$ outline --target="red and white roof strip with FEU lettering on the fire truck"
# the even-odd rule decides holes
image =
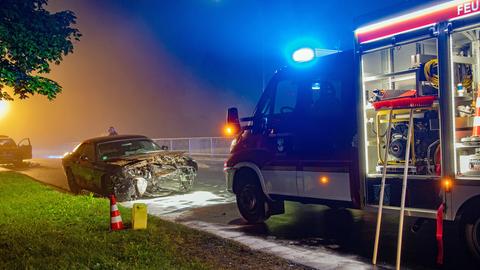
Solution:
[[[373,42],[401,33],[433,26],[441,21],[452,21],[479,13],[480,0],[450,1],[358,28],[355,31],[355,35],[359,43]]]

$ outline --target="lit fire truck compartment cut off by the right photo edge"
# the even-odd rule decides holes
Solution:
[[[451,35],[451,80],[455,89],[455,172],[457,177],[480,179],[478,134],[480,26],[463,27]],[[476,129],[476,130],[474,130]]]

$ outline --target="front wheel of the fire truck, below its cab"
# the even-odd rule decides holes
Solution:
[[[236,195],[238,210],[249,224],[262,223],[268,218],[265,195],[258,182],[246,181],[239,186]]]

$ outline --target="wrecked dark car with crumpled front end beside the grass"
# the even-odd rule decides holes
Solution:
[[[65,154],[62,164],[73,193],[114,194],[119,201],[187,192],[198,165],[184,152],[162,150],[139,135],[97,137]]]

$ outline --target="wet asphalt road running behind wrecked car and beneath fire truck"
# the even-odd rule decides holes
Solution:
[[[265,224],[247,225],[238,213],[234,197],[225,191],[223,159],[202,157],[196,159],[199,162],[199,173],[191,195],[169,193],[165,197],[150,201],[163,211],[162,215],[165,217],[180,222],[196,220],[232,226],[234,228],[232,230],[240,230],[248,235],[276,241],[282,245],[301,246],[312,251],[326,248],[338,254],[353,255],[362,261],[371,260],[375,213],[287,202],[285,214],[273,216]],[[58,189],[68,190],[59,159],[34,159],[22,168],[7,166],[6,169],[19,171]],[[203,196],[204,199],[198,200],[199,196]],[[170,202],[168,211],[163,207],[166,201]],[[413,233],[410,227],[414,222],[414,218],[406,218],[402,249],[403,267],[480,269],[463,249],[458,229],[451,223],[445,225],[445,263],[443,266],[436,265],[435,222],[428,220],[418,232]],[[378,257],[380,268],[392,268],[395,264],[397,232],[398,217],[392,214],[385,215]]]

